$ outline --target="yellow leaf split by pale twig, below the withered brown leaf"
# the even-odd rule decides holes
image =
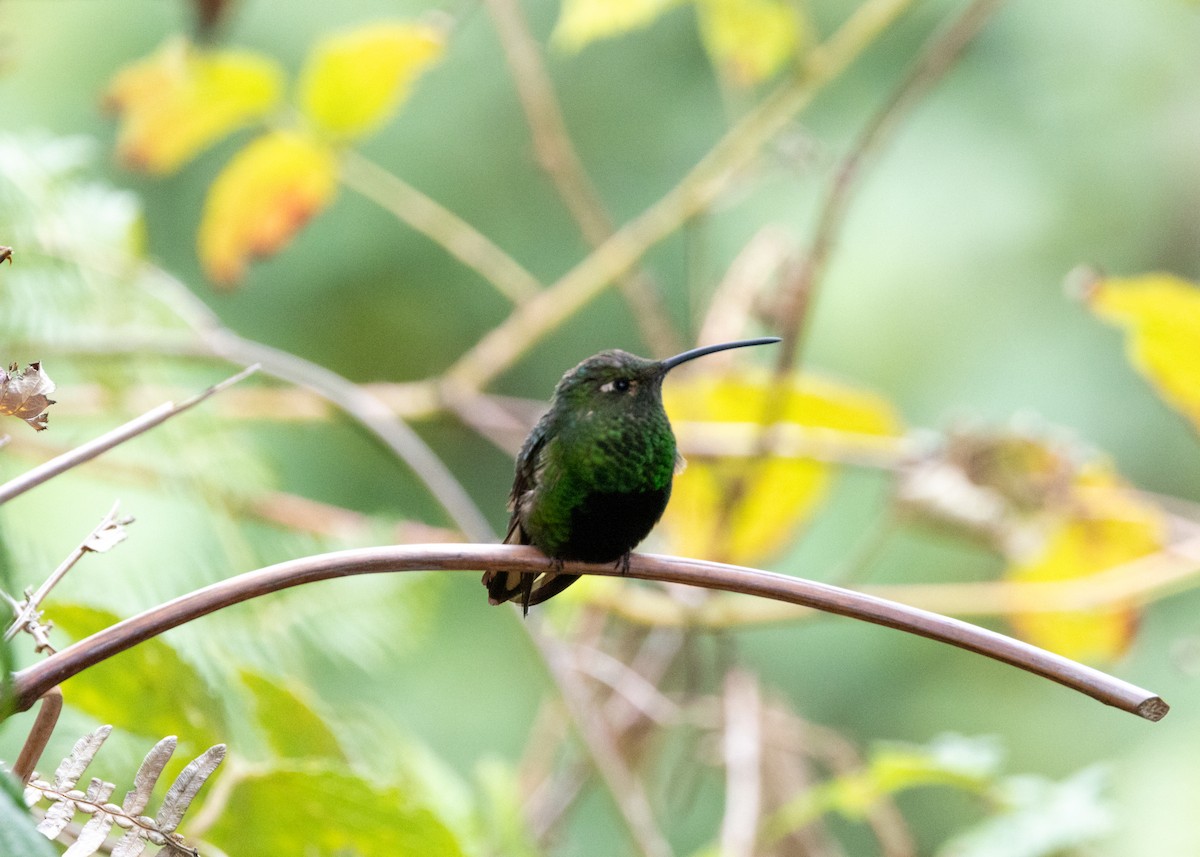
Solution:
[[[1034,556],[1006,573],[1014,582],[1080,581],[1160,551],[1166,527],[1159,510],[1126,486],[1106,463],[1084,467],[1070,502],[1056,516]],[[1138,627],[1132,605],[1088,611],[1026,612],[1012,617],[1025,640],[1068,658],[1110,661],[1128,648]]]

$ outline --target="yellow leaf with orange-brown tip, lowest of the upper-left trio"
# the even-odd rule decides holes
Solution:
[[[209,188],[198,239],[204,270],[235,283],[252,257],[281,250],[336,190],[337,162],[323,143],[292,131],[253,140]]]

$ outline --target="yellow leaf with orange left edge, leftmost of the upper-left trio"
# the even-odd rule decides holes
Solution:
[[[275,109],[283,74],[248,52],[209,52],[182,38],[118,72],[104,96],[121,118],[116,154],[130,167],[170,173]]]

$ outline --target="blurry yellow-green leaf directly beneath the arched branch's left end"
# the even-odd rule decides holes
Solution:
[[[120,621],[103,610],[68,604],[53,605],[47,618],[76,640]],[[84,670],[62,693],[71,707],[127,732],[178,735],[180,744],[203,748],[226,737],[221,699],[161,636]]]

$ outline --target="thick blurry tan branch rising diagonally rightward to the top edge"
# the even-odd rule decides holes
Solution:
[[[554,330],[655,244],[707,210],[762,148],[826,84],[859,56],[912,0],[868,0],[824,43],[814,48],[800,76],[768,96],[721,138],[674,187],[618,229],[551,288],[522,304],[446,372],[446,383],[480,390]]]

